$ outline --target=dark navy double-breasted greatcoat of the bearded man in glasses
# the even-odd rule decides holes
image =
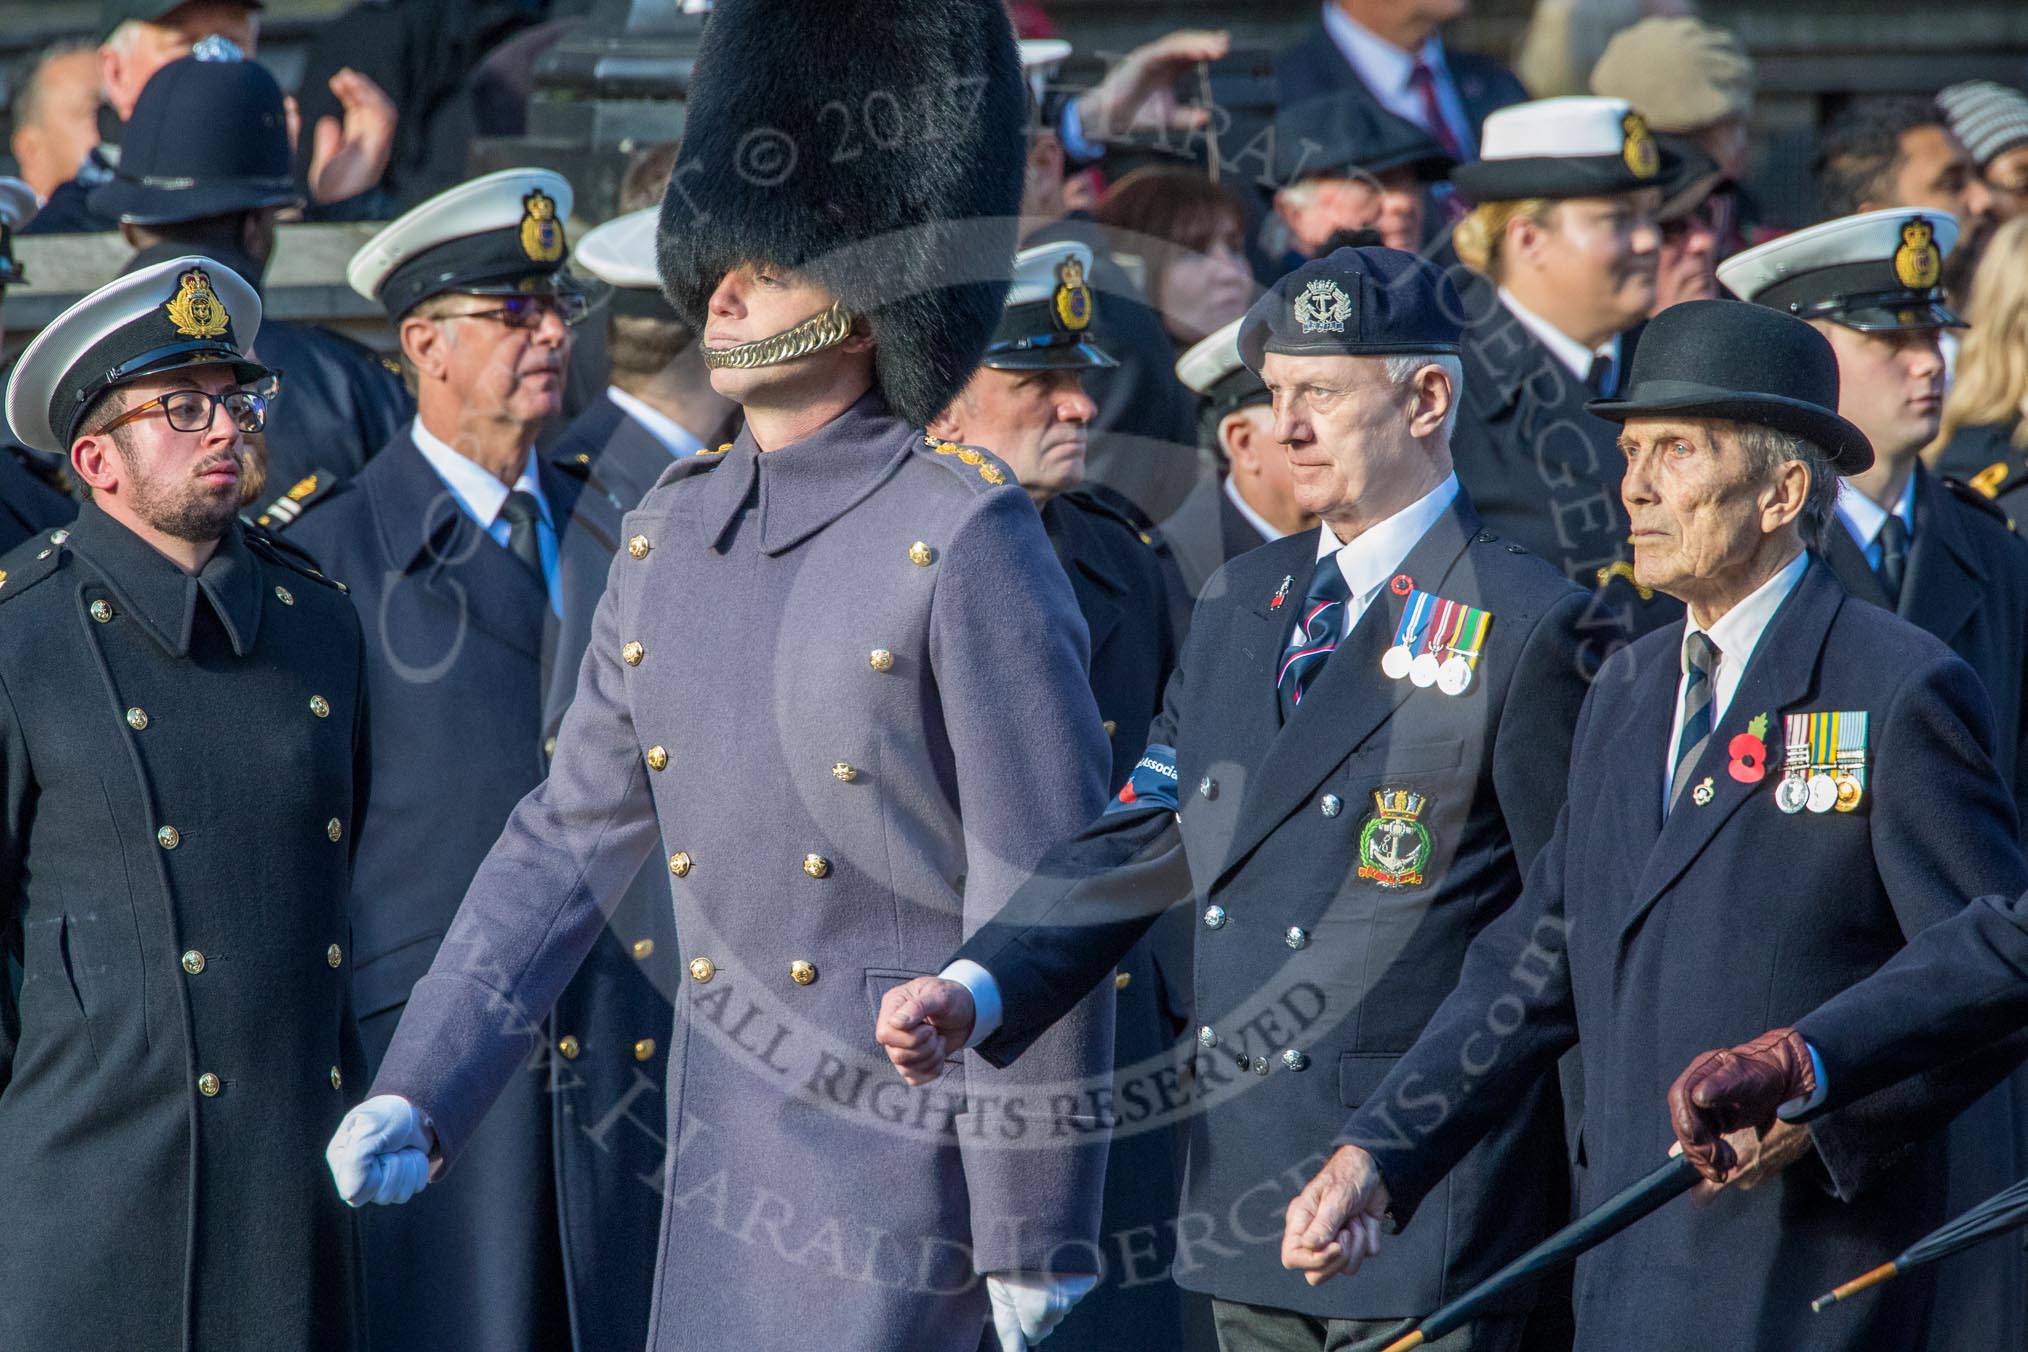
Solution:
[[[0,574],[0,1348],[351,1352],[353,608],[95,505]]]

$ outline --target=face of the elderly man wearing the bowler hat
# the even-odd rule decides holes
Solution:
[[[1732,424],[1704,418],[1631,418],[1620,430],[1633,521],[1635,580],[1693,606],[1744,596],[1758,582],[1768,537],[1801,511],[1801,462],[1756,474]],[[1799,476],[1799,480],[1797,480]]]

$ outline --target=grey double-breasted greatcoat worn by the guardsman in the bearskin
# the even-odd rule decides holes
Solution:
[[[874,1011],[1103,801],[1071,588],[1004,466],[874,393],[671,464],[623,531],[550,778],[375,1093],[456,1170],[659,835],[685,979],[649,1346],[973,1352],[975,1273],[1097,1271],[1113,991],[925,1088]]]

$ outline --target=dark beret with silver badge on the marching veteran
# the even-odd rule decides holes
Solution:
[[[1414,253],[1369,245],[1310,259],[1253,302],[1239,357],[1383,357],[1456,353],[1464,306],[1450,278]]]

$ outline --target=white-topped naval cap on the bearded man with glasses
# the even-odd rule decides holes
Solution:
[[[28,450],[61,456],[99,395],[160,371],[225,363],[254,383],[260,292],[225,264],[185,253],[114,278],[34,336],[6,385],[6,422]]]

